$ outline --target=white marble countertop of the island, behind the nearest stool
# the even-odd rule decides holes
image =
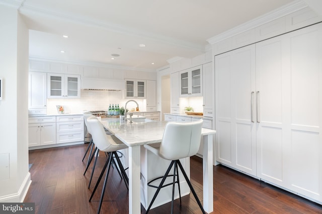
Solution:
[[[101,123],[127,146],[135,146],[161,142],[168,122],[129,123],[120,119],[102,119]],[[202,136],[215,133],[215,130],[202,128]]]

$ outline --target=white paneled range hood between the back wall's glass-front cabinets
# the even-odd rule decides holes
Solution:
[[[121,91],[121,90],[125,89],[125,81],[124,80],[83,77],[81,89]]]

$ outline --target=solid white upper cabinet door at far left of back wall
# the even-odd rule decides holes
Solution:
[[[47,108],[47,74],[29,72],[28,108]]]

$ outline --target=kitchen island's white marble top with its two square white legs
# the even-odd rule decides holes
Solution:
[[[167,121],[129,123],[119,119],[107,119],[101,122],[129,147],[129,213],[141,213],[141,158],[145,156],[142,154],[141,157],[141,145],[161,142]],[[203,207],[208,213],[213,211],[212,134],[215,133],[211,129],[202,129]]]

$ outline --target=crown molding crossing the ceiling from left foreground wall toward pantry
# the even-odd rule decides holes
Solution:
[[[2,0],[0,0],[2,1]],[[10,0],[6,0],[10,1]],[[188,41],[183,41],[179,39],[175,39],[172,37],[167,37],[159,34],[153,34],[150,32],[142,31],[142,30],[137,30],[134,28],[122,26],[122,25],[116,25],[112,23],[107,23],[107,22],[102,22],[101,20],[96,20],[96,19],[89,19],[85,17],[79,17],[79,16],[74,16],[74,15],[69,15],[69,14],[63,14],[57,11],[50,11],[42,8],[37,8],[32,5],[29,5],[28,2],[22,5],[20,8],[20,13],[25,14],[26,16],[30,15],[32,16],[33,14],[37,13],[38,15],[41,16],[46,16],[49,18],[53,19],[61,19],[62,21],[67,21],[67,22],[74,22],[77,24],[82,24],[82,25],[87,25],[91,27],[99,27],[106,29],[111,32],[116,32],[116,33],[121,33],[129,36],[135,36],[139,38],[144,38],[147,40],[152,40],[152,41],[157,41],[160,43],[165,43],[177,47],[182,47],[182,48],[187,48],[187,49],[192,49],[196,51],[202,52],[204,50],[203,45],[198,45],[195,43],[191,43]]]

